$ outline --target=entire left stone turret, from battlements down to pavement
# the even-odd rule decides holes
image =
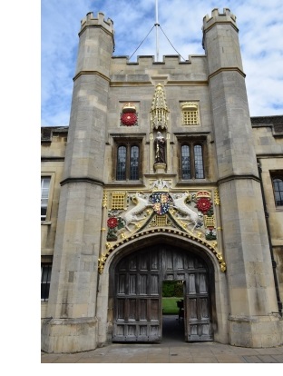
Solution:
[[[96,347],[112,20],[89,13],[79,37],[47,312],[52,319],[44,323],[42,335],[42,349],[48,352]]]

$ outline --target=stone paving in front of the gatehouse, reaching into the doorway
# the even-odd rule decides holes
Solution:
[[[283,363],[283,345],[250,349],[215,341],[185,342],[177,317],[163,321],[162,335],[158,344],[112,343],[73,354],[42,352],[41,363]]]

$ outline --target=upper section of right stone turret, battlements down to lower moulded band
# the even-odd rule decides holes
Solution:
[[[203,41],[208,56],[219,177],[234,173],[258,176],[238,28],[229,9],[224,9],[222,15],[214,9],[210,18],[204,17]]]

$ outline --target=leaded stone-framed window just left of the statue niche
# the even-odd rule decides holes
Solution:
[[[140,146],[137,143],[117,143],[116,180],[139,180],[141,172]]]

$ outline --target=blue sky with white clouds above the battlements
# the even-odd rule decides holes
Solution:
[[[42,1],[42,126],[69,124],[83,17],[102,12],[106,20],[111,18],[114,55],[128,55],[136,61],[137,55],[156,56],[155,4],[155,0]],[[159,60],[164,54],[181,54],[184,59],[204,54],[202,19],[212,9],[222,13],[226,7],[237,16],[250,115],[283,114],[282,0],[158,0]]]

